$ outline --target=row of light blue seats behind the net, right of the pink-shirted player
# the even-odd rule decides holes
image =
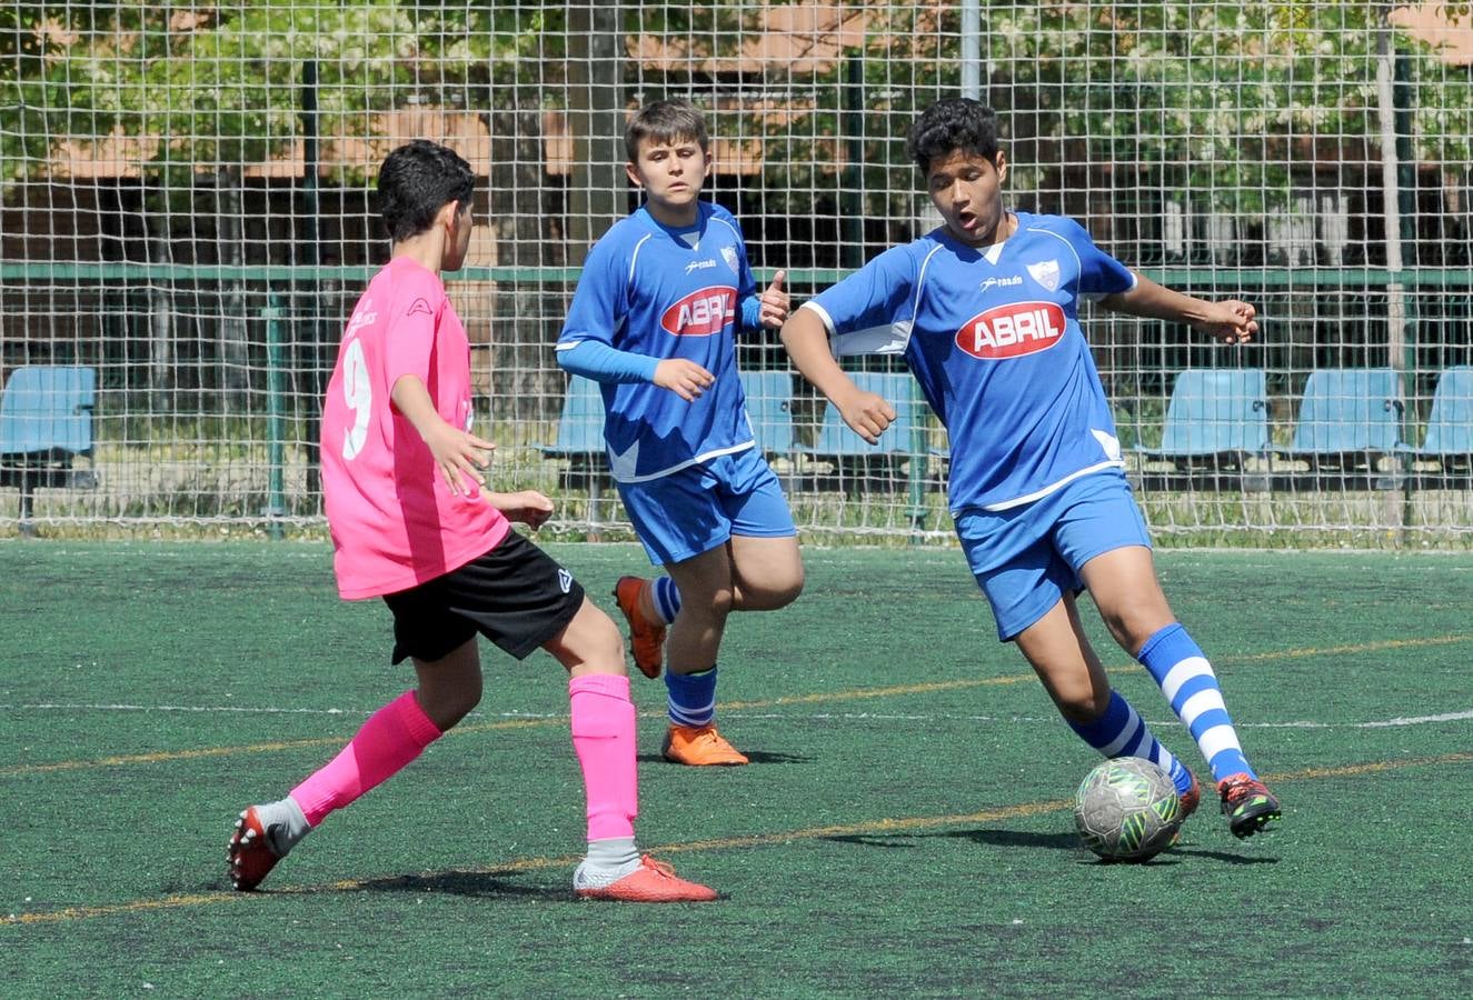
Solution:
[[[742,373],[747,411],[763,451],[790,480],[807,489],[904,489],[916,459],[946,459],[928,446],[925,404],[906,373],[856,373],[854,380],[890,399],[896,423],[879,445],[848,430],[825,405],[816,433],[797,434],[792,374]],[[1392,489],[1473,477],[1473,367],[1442,373],[1420,445],[1404,440],[1399,377],[1391,368],[1324,368],[1309,373],[1287,446],[1273,443],[1267,376],[1261,368],[1193,368],[1175,377],[1161,443],[1137,445],[1139,479],[1159,487]],[[580,485],[602,476],[602,401],[598,386],[573,378],[557,442],[542,448],[569,461]],[[807,440],[806,440],[807,439]],[[1162,471],[1159,465],[1165,465]],[[1426,468],[1424,465],[1430,465]],[[921,462],[924,477],[935,476]]]

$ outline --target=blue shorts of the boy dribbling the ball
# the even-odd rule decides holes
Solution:
[[[1150,548],[1130,483],[1114,470],[1081,476],[1022,507],[959,511],[956,536],[1003,642],[1041,619],[1065,592],[1081,591],[1080,567],[1096,555],[1128,545]]]

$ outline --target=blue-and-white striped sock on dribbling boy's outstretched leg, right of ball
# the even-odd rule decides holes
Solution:
[[[1240,772],[1256,778],[1237,742],[1237,730],[1223,704],[1223,689],[1212,673],[1212,664],[1180,622],[1146,639],[1136,658],[1156,679],[1161,692],[1171,703],[1171,711],[1177,713],[1198,741],[1202,756],[1212,767],[1214,782]]]

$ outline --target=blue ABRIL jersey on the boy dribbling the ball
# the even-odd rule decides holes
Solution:
[[[1136,275],[1058,215],[974,249],[944,227],[885,250],[803,308],[835,355],[903,353],[952,439],[950,508],[1006,510],[1102,468],[1119,442],[1078,300]]]

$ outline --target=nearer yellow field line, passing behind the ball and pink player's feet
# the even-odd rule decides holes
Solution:
[[[1274,784],[1295,781],[1320,781],[1326,778],[1354,778],[1357,775],[1371,775],[1388,770],[1404,770],[1407,767],[1423,767],[1438,764],[1473,763],[1473,753],[1441,754],[1436,757],[1414,757],[1410,760],[1373,760],[1360,764],[1343,764],[1340,767],[1305,767],[1301,770],[1264,775],[1264,781]],[[772,844],[788,844],[792,841],[812,841],[825,837],[863,837],[873,834],[907,834],[912,831],[937,829],[941,826],[962,826],[966,823],[996,823],[1006,819],[1021,819],[1043,813],[1056,813],[1072,807],[1072,800],[1055,798],[1037,803],[1021,803],[1018,806],[1002,806],[984,809],[978,813],[956,813],[950,816],[907,816],[865,820],[859,823],[835,823],[829,826],[809,826],[806,829],[784,831],[776,834],[750,834],[745,837],[720,837],[704,841],[686,841],[678,844],[661,844],[650,848],[654,854],[685,854],[692,851],[729,851],[750,847],[767,847]],[[455,875],[501,875],[514,872],[532,872],[546,867],[572,867],[580,860],[577,856],[567,857],[523,857],[489,866],[457,867]],[[417,878],[435,878],[451,872],[420,872]],[[286,887],[273,890],[274,895],[306,895],[315,892],[358,892],[383,881],[374,879],[342,879],[324,885]],[[66,923],[72,920],[87,920],[105,916],[122,916],[133,913],[149,913],[153,910],[174,910],[190,906],[211,906],[215,903],[234,903],[250,898],[245,892],[196,892],[190,895],[165,895],[158,900],[134,900],[113,906],[69,906],[62,910],[47,910],[41,913],[12,913],[0,916],[0,926],[24,926],[37,923]]]

